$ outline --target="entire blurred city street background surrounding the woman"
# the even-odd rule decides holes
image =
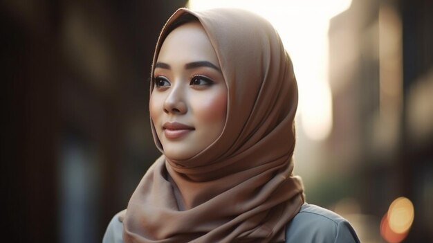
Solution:
[[[269,19],[293,57],[307,201],[362,242],[433,242],[433,1],[231,2],[0,1],[4,241],[102,241],[159,155],[160,29],[226,4]]]

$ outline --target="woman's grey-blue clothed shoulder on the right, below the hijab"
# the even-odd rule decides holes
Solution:
[[[304,204],[286,228],[286,242],[360,242],[349,222],[330,210]]]

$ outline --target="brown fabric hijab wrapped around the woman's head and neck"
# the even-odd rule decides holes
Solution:
[[[221,136],[191,159],[156,160],[129,201],[123,238],[284,242],[286,224],[304,203],[302,181],[293,176],[297,84],[290,57],[257,15],[181,8],[163,28],[153,64],[181,15],[199,20],[216,51],[228,87],[227,120]]]

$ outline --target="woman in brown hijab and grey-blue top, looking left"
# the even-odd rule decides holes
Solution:
[[[243,10],[177,10],[151,70],[163,155],[104,242],[359,242],[293,175],[297,84],[274,28]]]

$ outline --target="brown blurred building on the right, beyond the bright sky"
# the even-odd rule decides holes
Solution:
[[[340,183],[367,215],[409,198],[405,242],[433,241],[432,10],[430,0],[353,0],[329,28],[329,166],[349,174]]]

